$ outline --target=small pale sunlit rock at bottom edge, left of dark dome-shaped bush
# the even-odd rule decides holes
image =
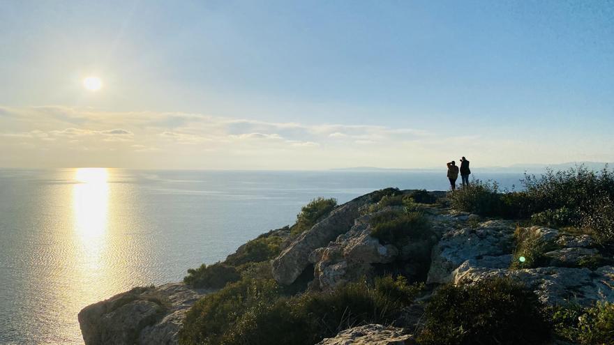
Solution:
[[[416,344],[412,335],[402,328],[370,324],[342,330],[334,338],[326,338],[316,345],[410,345]]]

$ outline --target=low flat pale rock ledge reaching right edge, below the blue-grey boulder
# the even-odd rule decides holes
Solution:
[[[522,270],[485,268],[465,261],[454,270],[455,284],[479,282],[491,277],[511,277],[537,293],[548,305],[565,305],[569,301],[588,306],[597,300],[614,302],[614,267],[588,268],[540,267]]]

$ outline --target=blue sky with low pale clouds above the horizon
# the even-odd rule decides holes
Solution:
[[[0,167],[614,161],[614,1],[0,0],[0,33]]]

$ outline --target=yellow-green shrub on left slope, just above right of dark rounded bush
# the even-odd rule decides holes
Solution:
[[[268,261],[281,252],[283,238],[280,236],[260,236],[239,247],[237,252],[230,254],[225,263],[240,266],[245,263]]]

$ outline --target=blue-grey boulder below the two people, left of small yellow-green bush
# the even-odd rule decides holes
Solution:
[[[502,262],[510,257],[493,257],[509,255],[513,245],[514,226],[511,222],[489,220],[475,228],[451,229],[444,233],[439,243],[433,247],[426,282],[450,282],[452,271],[470,259],[481,260],[480,264],[486,267],[500,267],[504,264]]]

